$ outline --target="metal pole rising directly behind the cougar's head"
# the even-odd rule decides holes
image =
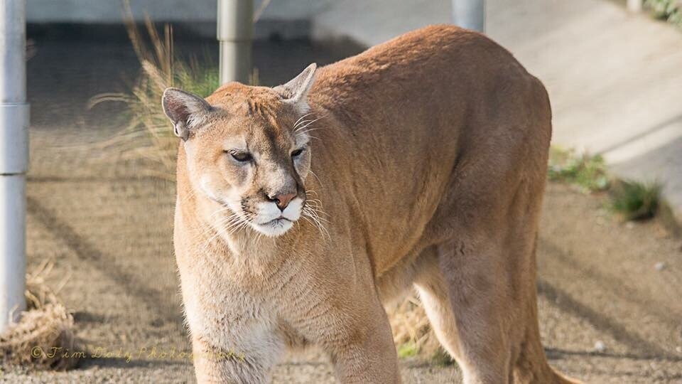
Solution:
[[[221,84],[249,82],[253,17],[253,0],[218,0]]]

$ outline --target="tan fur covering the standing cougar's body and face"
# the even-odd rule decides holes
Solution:
[[[174,241],[198,380],[267,382],[288,346],[312,343],[342,383],[398,383],[381,302],[413,284],[465,383],[570,383],[538,333],[541,83],[485,36],[431,26],[320,68],[303,91],[307,106],[224,85],[180,144]],[[318,120],[299,137],[308,107]],[[227,157],[234,137],[255,165]],[[229,227],[239,208],[224,196],[247,212],[294,183],[324,229]]]

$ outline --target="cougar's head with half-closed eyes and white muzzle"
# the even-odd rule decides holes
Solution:
[[[212,225],[283,235],[303,214],[315,117],[306,97],[311,64],[277,87],[231,82],[206,99],[168,88],[163,110],[183,140],[193,193],[212,204]]]

